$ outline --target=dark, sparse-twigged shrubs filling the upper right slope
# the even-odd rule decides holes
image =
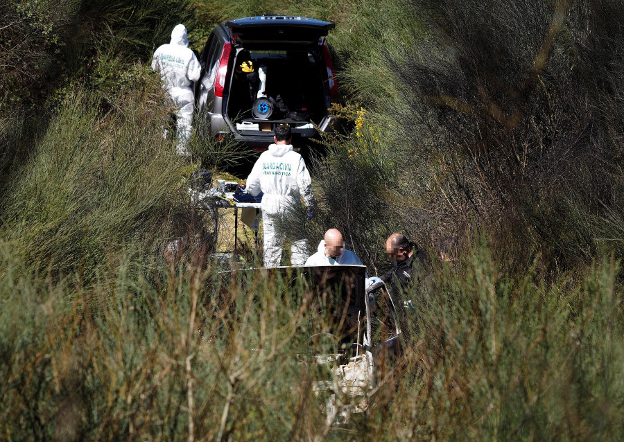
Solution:
[[[588,219],[620,206],[621,4],[415,1],[405,17],[419,26],[381,48],[381,80],[347,73],[383,91],[373,104],[395,123],[401,197],[437,201],[451,234],[476,215],[520,259],[593,256]]]

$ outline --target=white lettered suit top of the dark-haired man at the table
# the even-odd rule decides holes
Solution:
[[[256,196],[260,191],[263,214],[284,213],[300,202],[312,206],[314,195],[306,163],[291,144],[272,144],[254,164],[247,178],[247,191]]]

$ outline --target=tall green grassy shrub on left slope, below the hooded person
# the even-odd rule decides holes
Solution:
[[[93,276],[108,252],[166,238],[182,163],[162,139],[157,81],[135,73],[144,89],[119,91],[106,114],[97,96],[70,94],[12,170],[2,236],[26,262]]]

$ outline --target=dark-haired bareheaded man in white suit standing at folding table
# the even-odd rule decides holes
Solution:
[[[300,204],[300,196],[308,208],[308,219],[313,216],[314,195],[306,163],[293,151],[291,127],[277,126],[275,144],[262,152],[247,178],[247,190],[256,196],[263,191],[262,224],[264,267],[277,267],[281,261],[284,238],[275,224],[284,213]],[[307,256],[306,240],[295,240],[291,247],[291,264],[303,265]]]

